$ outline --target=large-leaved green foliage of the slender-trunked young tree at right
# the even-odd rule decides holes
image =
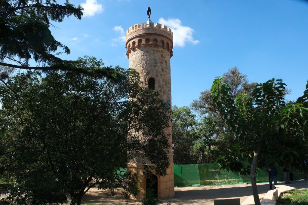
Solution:
[[[226,119],[229,129],[239,139],[239,143],[234,145],[234,155],[219,159],[221,164],[224,164],[223,162],[226,161],[229,162],[228,165],[222,166],[226,169],[231,167],[231,170],[239,171],[242,174],[250,173],[248,166],[245,166],[244,162],[252,162],[253,151],[256,151],[258,146],[260,146],[260,137],[269,129],[271,130],[267,137],[261,142],[266,144],[265,149],[267,152],[263,155],[263,158],[259,158],[259,167],[270,166],[271,163],[279,163],[281,166],[300,164],[299,162],[302,162],[300,161],[302,159],[294,160],[296,158],[294,155],[298,155],[295,150],[299,149],[301,145],[299,142],[303,140],[298,135],[298,131],[306,129],[304,128],[305,123],[303,121],[296,123],[299,120],[297,117],[289,116],[287,118],[286,116],[292,109],[294,113],[300,114],[305,108],[302,111],[295,111],[299,108],[300,104],[285,104],[285,84],[282,80],[272,79],[258,84],[256,89],[253,90],[252,97],[241,94],[235,98],[234,102],[229,90],[229,86],[222,78],[218,78],[213,82],[213,99],[217,102],[219,112]],[[301,116],[299,117],[302,119]],[[295,123],[298,127],[294,127]],[[294,130],[294,133],[288,132],[287,136],[284,131],[288,131],[288,126],[294,127],[296,131]],[[285,129],[283,130],[282,128]],[[290,138],[290,136],[293,138]],[[298,143],[295,141],[298,141]],[[289,150],[287,147],[289,147]],[[305,146],[302,148],[306,149]],[[241,152],[238,152],[238,150],[241,150]],[[286,153],[285,157],[283,152]],[[280,159],[276,159],[278,153],[282,154]]]

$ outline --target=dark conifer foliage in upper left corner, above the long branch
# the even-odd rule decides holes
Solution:
[[[36,62],[59,61],[53,54],[59,48],[69,54],[67,46],[52,36],[50,21],[62,22],[72,15],[81,19],[83,15],[80,6],[51,0],[2,0],[0,11],[0,60],[17,57],[24,60],[24,65],[30,58]]]

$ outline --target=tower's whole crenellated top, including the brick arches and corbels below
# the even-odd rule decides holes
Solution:
[[[147,23],[135,24],[126,31],[126,55],[129,58],[131,51],[140,46],[156,46],[170,52],[170,58],[173,55],[173,33],[167,26],[160,23],[148,21]]]

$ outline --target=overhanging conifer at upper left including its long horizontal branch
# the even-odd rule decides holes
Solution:
[[[53,26],[51,21],[62,22],[70,16],[81,20],[82,10],[80,5],[76,7],[68,0],[64,5],[57,4],[56,0],[1,0],[0,65],[28,70],[75,70],[89,75],[115,77],[110,67],[87,67],[56,57],[59,49],[66,54],[70,50],[52,36],[49,29]],[[43,66],[29,66],[30,58]]]

